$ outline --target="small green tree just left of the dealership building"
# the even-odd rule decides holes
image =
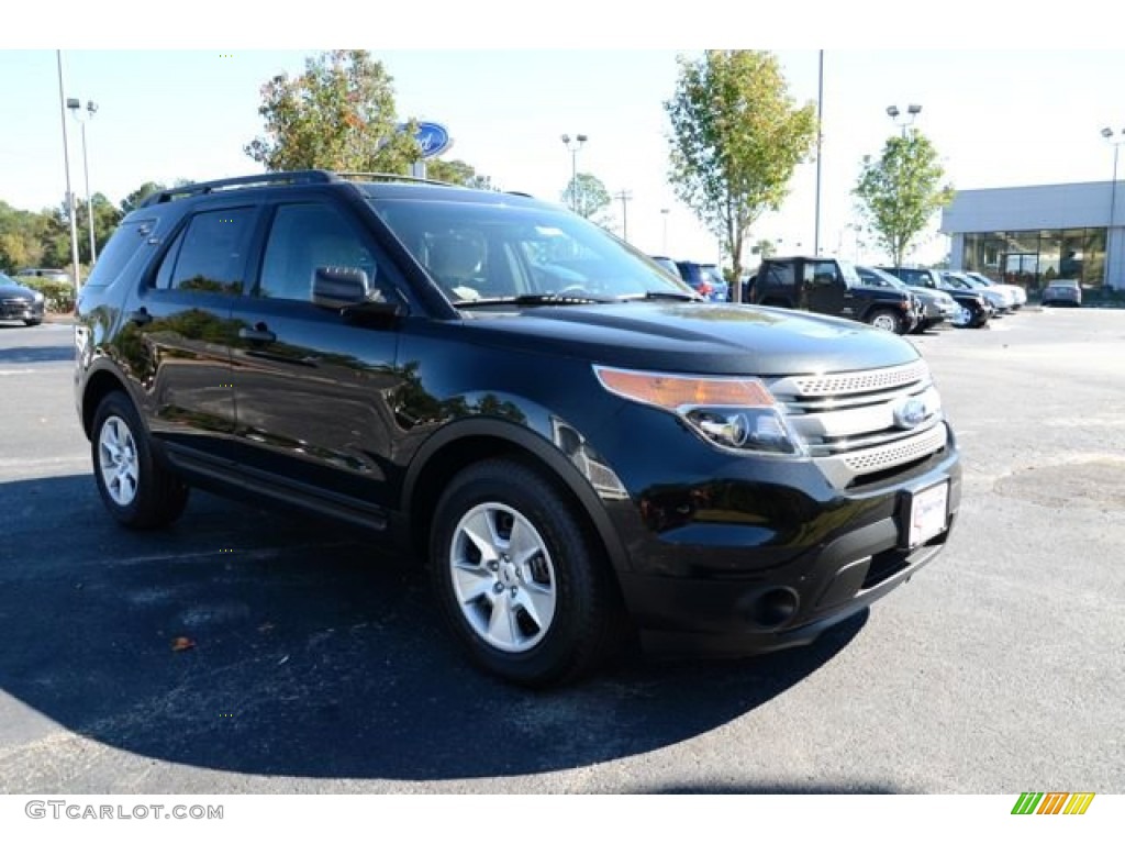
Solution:
[[[863,156],[852,192],[896,267],[902,266],[934,214],[953,199],[953,187],[943,185],[944,179],[937,150],[917,129],[886,138],[878,160]]]

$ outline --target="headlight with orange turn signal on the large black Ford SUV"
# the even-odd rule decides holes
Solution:
[[[610,393],[673,413],[708,442],[738,451],[803,454],[770,389],[757,378],[638,372],[594,367]]]

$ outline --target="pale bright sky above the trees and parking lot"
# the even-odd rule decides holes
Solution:
[[[19,38],[18,32],[11,38],[10,29],[0,35],[0,102],[9,118],[0,132],[0,200],[38,210],[57,205],[65,195],[58,70],[52,46],[64,47],[65,96],[98,104],[87,125],[91,191],[118,203],[145,181],[259,172],[243,147],[262,131],[258,115],[262,83],[277,73],[300,73],[307,56],[334,46],[325,43],[332,34],[314,27],[304,35],[310,46],[302,47],[297,24],[290,30],[282,27],[278,37],[268,39],[270,45],[253,45],[254,38],[246,37],[252,45],[246,48],[202,48],[197,46],[198,18],[206,19],[205,6],[197,7],[201,14],[192,19],[196,29],[186,27],[178,42],[163,43],[169,41],[168,27],[144,42],[156,50],[122,50],[114,43],[120,33],[90,34],[74,26],[62,32],[54,45]],[[460,6],[449,7],[447,26],[434,27],[433,37],[418,38],[414,27],[404,28],[397,43],[372,36],[370,44],[342,46],[370,50],[382,62],[394,78],[400,118],[448,126],[453,147],[443,158],[468,162],[503,189],[558,201],[572,168],[572,154],[560,136],[585,134],[588,141],[577,154],[577,168],[598,177],[611,194],[631,195],[630,242],[654,254],[717,260],[716,237],[699,225],[667,182],[668,123],[663,104],[675,88],[677,56],[694,57],[704,46],[731,45],[717,35],[721,27],[712,32],[691,26],[683,28],[685,46],[660,43],[667,32],[652,38],[650,29],[640,28],[630,33],[632,42],[613,47],[604,33],[587,27],[582,38],[561,25],[559,43],[537,42],[555,25],[551,10],[580,15],[583,6],[529,7],[497,0],[479,7],[531,10],[520,18],[520,26],[539,35],[521,43],[534,48],[497,48],[495,27],[485,26],[486,19],[467,17],[467,29],[458,32],[461,18],[452,10],[464,9]],[[956,3],[951,11],[957,11]],[[533,19],[537,15],[543,19]],[[512,25],[511,17],[507,20],[506,26]],[[348,32],[356,37],[354,29]],[[476,37],[474,32],[483,35]],[[1006,32],[1011,34],[1010,28]],[[839,39],[835,32],[820,35],[826,44]],[[583,41],[592,48],[582,48]],[[501,42],[512,44],[515,38]],[[861,221],[850,191],[863,156],[878,155],[886,137],[899,131],[885,114],[890,105],[903,113],[911,102],[921,105],[915,125],[934,142],[955,188],[1110,179],[1113,150],[1100,129],[1125,129],[1125,51],[997,50],[981,44],[980,37],[956,43],[966,46],[825,48],[822,251],[867,261],[883,258],[868,243],[870,236],[855,231]],[[16,50],[17,44],[42,48]],[[430,44],[433,48],[420,48]],[[271,45],[287,48],[260,48]],[[801,104],[814,101],[819,51],[775,52],[790,95]],[[81,127],[70,115],[65,123],[73,189],[84,196]],[[814,163],[800,165],[790,188],[780,212],[766,214],[754,226],[750,243],[780,241],[782,252],[812,249]],[[662,213],[665,208],[667,214]],[[621,234],[621,203],[614,201],[611,209]],[[947,249],[947,239],[937,234],[935,225],[912,258],[939,260]]]

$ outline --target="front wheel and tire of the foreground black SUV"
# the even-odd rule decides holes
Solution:
[[[484,530],[487,548],[470,538]],[[477,666],[544,688],[588,674],[611,649],[621,613],[610,564],[548,473],[507,459],[469,466],[430,536],[442,616]]]

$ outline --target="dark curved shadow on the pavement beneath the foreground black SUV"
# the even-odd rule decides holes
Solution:
[[[410,559],[335,526],[194,493],[174,528],[134,533],[88,476],[0,484],[0,690],[110,747],[250,774],[486,778],[651,752],[772,700],[866,620],[532,693],[468,665]]]

